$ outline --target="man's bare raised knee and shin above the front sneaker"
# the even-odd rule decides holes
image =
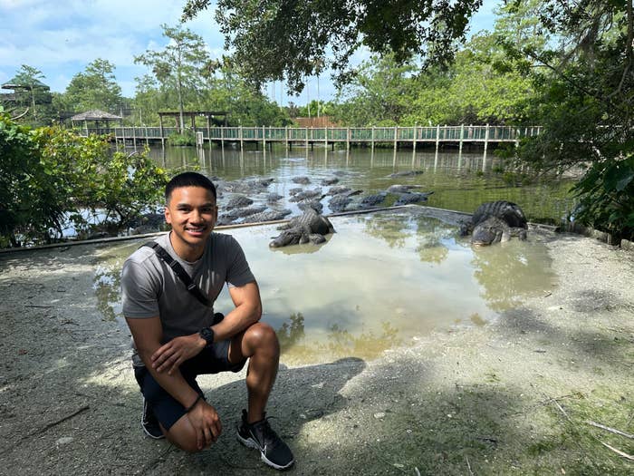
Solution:
[[[236,364],[245,358],[249,359],[246,370],[249,395],[247,421],[255,423],[264,418],[264,409],[280,362],[280,343],[273,327],[258,322],[235,335],[229,346],[229,362]]]

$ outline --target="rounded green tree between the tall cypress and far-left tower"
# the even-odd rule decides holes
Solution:
[[[75,112],[91,109],[116,112],[122,97],[114,70],[114,64],[97,58],[86,66],[84,73],[72,77],[64,93],[65,101],[74,105]]]

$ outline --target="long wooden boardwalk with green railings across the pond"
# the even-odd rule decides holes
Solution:
[[[293,145],[311,147],[314,144],[324,146],[345,144],[349,150],[351,145],[393,144],[396,150],[399,146],[410,146],[414,150],[418,144],[451,143],[462,151],[464,143],[482,144],[485,151],[489,143],[502,142],[517,143],[524,137],[532,137],[540,133],[541,127],[514,126],[414,126],[414,127],[337,127],[337,128],[306,128],[306,127],[197,127],[190,129],[197,137],[197,145],[205,142],[216,142],[224,148],[226,142],[239,143],[244,149],[246,143],[262,143],[265,147],[274,143],[284,144],[286,149]],[[82,129],[81,133],[104,133],[101,130]],[[174,127],[116,127],[110,129],[115,140],[119,143],[157,142],[165,145],[169,135],[177,132]]]

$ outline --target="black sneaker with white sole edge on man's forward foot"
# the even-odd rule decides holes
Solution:
[[[242,411],[242,424],[238,426],[238,442],[249,448],[260,450],[260,457],[269,466],[276,470],[285,470],[293,465],[293,453],[288,445],[283,442],[266,418],[259,422],[247,423],[246,410]]]

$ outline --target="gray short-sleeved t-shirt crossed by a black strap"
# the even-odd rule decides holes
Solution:
[[[169,234],[155,241],[180,263],[212,303],[225,283],[241,287],[255,281],[245,253],[230,235],[212,233],[203,256],[195,263],[178,257]],[[121,301],[123,316],[130,319],[159,316],[163,343],[213,324],[214,310],[187,291],[172,268],[149,247],[137,249],[123,264]]]

